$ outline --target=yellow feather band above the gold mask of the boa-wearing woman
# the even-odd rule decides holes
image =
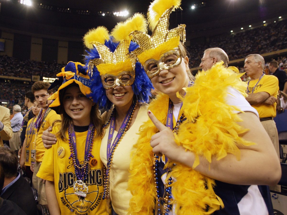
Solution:
[[[139,62],[143,65],[148,59],[159,60],[161,56],[173,48],[177,48],[180,42],[180,37],[174,37],[160,44],[156,48],[146,50],[137,56]],[[173,48],[172,48],[173,47]]]

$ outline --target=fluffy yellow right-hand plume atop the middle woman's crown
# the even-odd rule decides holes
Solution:
[[[133,31],[147,32],[147,20],[141,13],[135,13],[125,22],[119,22],[111,31],[111,36],[115,38],[116,42],[122,40],[129,40],[129,35]]]

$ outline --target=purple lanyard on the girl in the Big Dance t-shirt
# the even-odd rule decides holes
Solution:
[[[92,134],[93,128],[94,128],[94,125],[91,123],[89,125],[88,134],[87,134],[87,138],[86,138],[84,160],[86,160],[86,157],[89,154],[88,148],[89,148],[89,145],[90,145],[90,139],[91,139],[91,134]],[[75,150],[75,157],[74,157],[74,159],[75,159],[77,165],[79,166],[80,162],[79,162],[79,159],[78,159],[77,146],[76,146],[76,134],[75,134],[74,126],[70,125],[69,130],[70,130],[70,134],[71,134],[71,143],[73,144],[73,147],[74,147],[74,150]],[[84,168],[82,170],[84,171]],[[79,177],[82,178],[83,172],[79,168],[77,168],[77,170],[75,169],[75,171],[77,171],[79,173]]]

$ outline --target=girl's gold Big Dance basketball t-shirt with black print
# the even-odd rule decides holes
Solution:
[[[56,134],[60,128],[60,125],[53,126],[52,133]],[[84,161],[87,133],[88,131],[75,132],[77,156],[80,164]],[[94,135],[96,136],[96,132]],[[66,137],[68,137],[68,132],[66,132]],[[100,160],[100,144],[101,137],[94,138],[92,155],[95,160],[90,164],[87,181],[84,181],[88,187],[88,193],[84,202],[78,201],[79,198],[73,191],[73,183],[76,177],[73,161],[69,159],[71,155],[69,141],[57,138],[57,143],[52,148],[46,150],[37,177],[54,181],[61,214],[106,214],[106,200],[102,200],[104,172],[103,163]],[[64,152],[61,152],[61,154],[64,153],[63,158],[57,153],[59,147],[64,148]]]

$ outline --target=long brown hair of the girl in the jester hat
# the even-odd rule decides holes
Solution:
[[[77,84],[70,84],[69,86],[60,90],[59,97],[60,97],[60,101],[61,101],[61,105],[60,105],[61,120],[55,120],[53,122],[53,126],[55,124],[61,123],[61,129],[59,130],[59,132],[56,133],[56,136],[58,138],[61,138],[62,140],[67,140],[66,132],[67,132],[70,124],[73,124],[72,118],[65,112],[65,109],[63,106],[63,96],[65,94],[65,91],[71,86],[79,87],[79,85],[77,85]],[[90,114],[90,120],[91,120],[91,123],[94,124],[94,127],[95,127],[95,131],[96,131],[95,137],[98,137],[100,135],[100,133],[102,132],[102,126],[104,123],[101,119],[100,111],[99,111],[99,107],[98,107],[97,103],[92,106],[91,114]]]

